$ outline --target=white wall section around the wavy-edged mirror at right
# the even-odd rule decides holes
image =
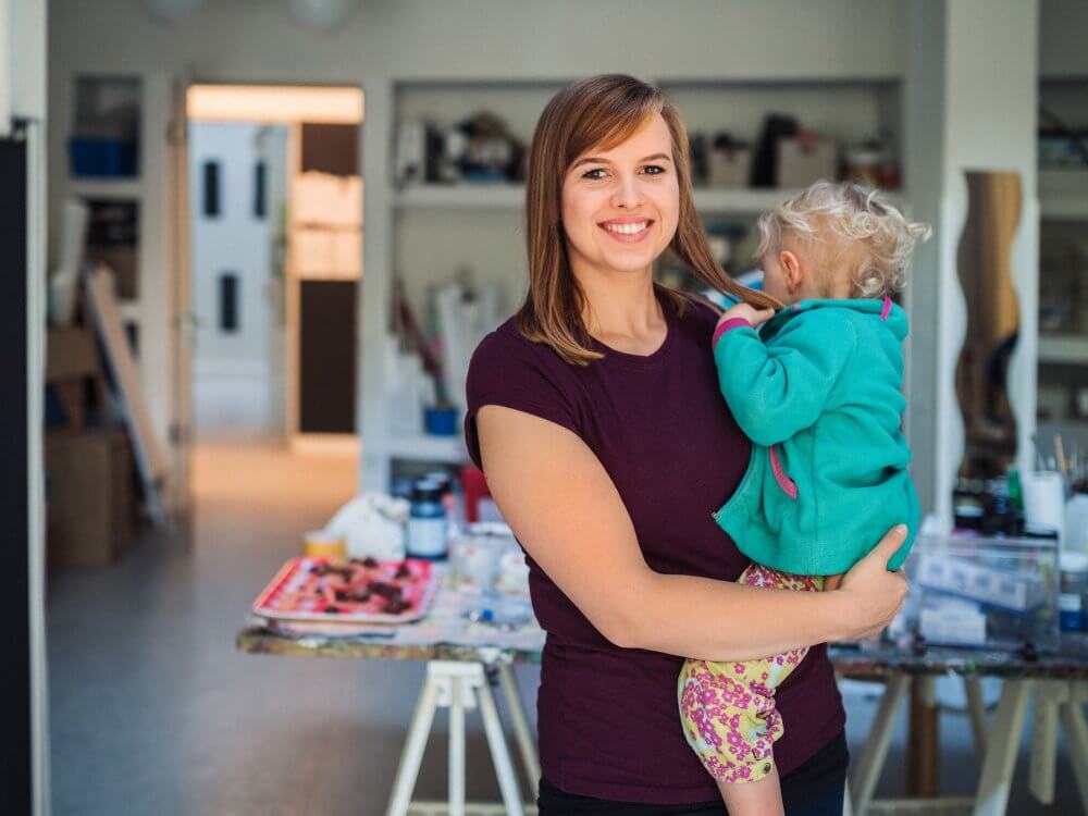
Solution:
[[[1021,331],[1010,369],[1019,465],[1030,467],[1038,334],[1035,0],[914,0],[907,76],[906,182],[913,215],[935,227],[908,289],[910,438],[923,507],[951,521],[963,455],[954,388],[966,308],[956,251],[967,215],[968,171],[1013,171],[1023,209],[1012,249]],[[979,25],[985,20],[986,25]]]

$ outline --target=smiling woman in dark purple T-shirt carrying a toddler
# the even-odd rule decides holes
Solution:
[[[733,583],[745,559],[710,514],[750,443],[716,383],[717,314],[654,284],[667,248],[708,285],[766,296],[715,262],[676,110],[636,79],[576,83],[544,110],[527,189],[529,294],[469,372],[466,435],[524,548],[547,642],[537,730],[548,814],[724,813],[688,747],[684,657],[762,657],[880,631],[905,593],[885,536],[841,588]],[[790,814],[842,812],[844,713],[824,646],[778,692]]]

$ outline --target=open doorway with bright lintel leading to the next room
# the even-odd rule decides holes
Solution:
[[[362,111],[358,88],[187,89],[198,443],[358,457]]]

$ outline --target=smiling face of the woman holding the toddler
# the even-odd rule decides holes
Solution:
[[[679,214],[672,139],[659,114],[613,149],[578,157],[562,182],[562,228],[576,270],[647,270],[672,240]]]

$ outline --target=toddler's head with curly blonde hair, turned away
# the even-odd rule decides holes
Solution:
[[[817,182],[758,226],[764,289],[788,304],[890,296],[906,284],[915,242],[930,233],[850,182]]]

